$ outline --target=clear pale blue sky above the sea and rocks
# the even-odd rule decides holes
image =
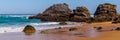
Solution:
[[[71,10],[86,6],[91,14],[99,4],[111,3],[117,5],[120,13],[120,0],[0,0],[0,14],[38,14],[58,3],[67,3]]]

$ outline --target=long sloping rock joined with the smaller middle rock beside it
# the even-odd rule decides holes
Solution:
[[[72,11],[66,3],[54,4],[46,9],[42,14],[31,16],[29,19],[41,19],[42,21],[75,21],[86,22],[90,19],[90,13],[84,6],[77,7]]]

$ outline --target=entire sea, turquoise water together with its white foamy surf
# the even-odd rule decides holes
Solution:
[[[28,19],[34,14],[0,14],[0,33],[22,32],[26,25],[32,25],[36,30],[44,30],[63,26],[59,22],[42,22],[40,19]],[[79,24],[78,24],[79,25]]]

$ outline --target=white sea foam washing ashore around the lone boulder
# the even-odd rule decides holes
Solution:
[[[75,26],[74,23],[71,23],[73,25],[56,25],[58,23],[59,22],[30,23],[30,25],[34,26],[36,30],[44,30],[44,29],[52,29],[52,28],[58,28],[58,27],[72,27],[72,26]],[[22,32],[24,27],[25,27],[25,25],[13,25],[13,26],[10,25],[10,26],[7,26],[7,27],[0,27],[0,33]]]

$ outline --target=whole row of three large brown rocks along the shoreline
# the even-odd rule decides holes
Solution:
[[[100,4],[96,12],[94,13],[94,18],[90,17],[89,10],[82,6],[77,7],[71,11],[68,4],[54,4],[47,8],[43,13],[39,13],[36,16],[30,16],[29,19],[41,19],[42,21],[74,21],[74,22],[105,22],[119,20],[117,16],[116,5],[110,3]],[[117,21],[118,22],[118,21]]]

